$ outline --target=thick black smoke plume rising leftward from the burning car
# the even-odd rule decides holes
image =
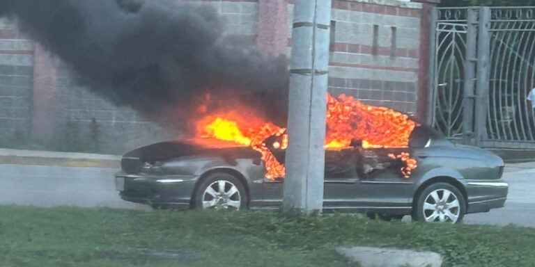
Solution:
[[[222,19],[206,5],[0,0],[0,15],[16,17],[90,90],[149,118],[180,122],[210,94],[219,106],[239,102],[286,124],[286,58],[266,58],[250,40],[222,35]]]

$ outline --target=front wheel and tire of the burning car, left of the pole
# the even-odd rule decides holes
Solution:
[[[200,209],[246,209],[247,192],[242,182],[228,173],[208,175],[194,194],[194,207]]]

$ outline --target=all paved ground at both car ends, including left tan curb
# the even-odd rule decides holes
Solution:
[[[148,209],[118,197],[114,173],[120,158],[0,149],[0,204]],[[506,164],[504,179],[509,183],[506,207],[468,214],[465,223],[535,227],[535,162]]]

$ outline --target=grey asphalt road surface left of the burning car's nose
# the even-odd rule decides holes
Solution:
[[[115,191],[115,168],[0,165],[0,204],[148,209]]]

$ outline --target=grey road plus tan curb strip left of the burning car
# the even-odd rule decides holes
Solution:
[[[121,200],[121,156],[0,149],[0,204],[148,209]]]

